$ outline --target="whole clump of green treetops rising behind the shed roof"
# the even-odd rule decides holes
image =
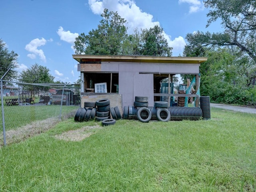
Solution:
[[[151,55],[171,56],[172,48],[163,36],[163,29],[154,26],[150,29],[127,34],[126,20],[117,12],[101,14],[102,20],[97,29],[88,35],[80,34],[75,41],[76,54],[94,55]]]

